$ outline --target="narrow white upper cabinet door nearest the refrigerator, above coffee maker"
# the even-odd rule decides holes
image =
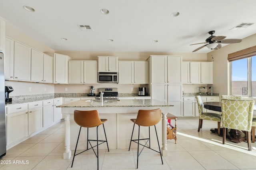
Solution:
[[[14,79],[14,40],[7,37],[5,38],[4,78],[5,80]]]

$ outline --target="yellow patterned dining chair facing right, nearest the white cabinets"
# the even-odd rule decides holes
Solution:
[[[199,111],[198,132],[200,132],[200,129],[202,129],[203,120],[218,121],[218,135],[220,136],[221,115],[218,113],[209,113],[209,112],[204,113],[204,104],[202,102],[201,96],[196,96],[196,102],[197,102],[198,111]]]

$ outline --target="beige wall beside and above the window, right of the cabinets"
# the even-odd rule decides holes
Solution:
[[[219,92],[220,95],[230,94],[229,89],[229,63],[228,63],[228,54],[240,51],[256,45],[256,34],[246,37],[242,40],[241,43],[229,44],[221,49],[214,50],[210,53],[207,53],[208,61],[213,63],[213,84],[214,91]]]

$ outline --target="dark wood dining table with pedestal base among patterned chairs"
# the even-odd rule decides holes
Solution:
[[[204,102],[204,108],[208,110],[218,111],[222,112],[221,110],[221,102]],[[254,111],[253,111],[253,117],[256,117],[256,105],[254,105]],[[213,128],[210,129],[212,133],[218,134],[218,129]],[[226,133],[227,136],[232,142],[234,143],[240,143],[242,141],[246,141],[246,135],[244,132],[236,130],[236,129],[230,129],[229,133]],[[222,128],[220,128],[220,135],[222,135]]]

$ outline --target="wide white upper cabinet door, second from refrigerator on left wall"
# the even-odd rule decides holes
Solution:
[[[30,81],[31,48],[14,42],[14,80]]]

